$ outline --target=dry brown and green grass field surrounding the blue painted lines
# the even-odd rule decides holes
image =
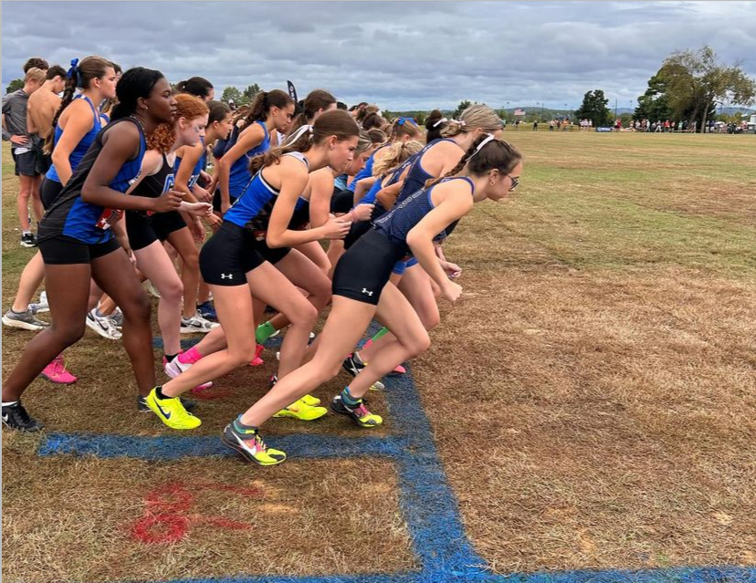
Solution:
[[[463,267],[463,297],[442,305],[433,345],[413,363],[467,536],[498,573],[756,566],[756,137],[505,137],[525,157],[521,186],[505,203],[479,204],[447,242],[446,256]],[[32,255],[18,245],[16,189],[4,148],[4,310]],[[4,328],[4,374],[28,338]],[[263,370],[218,381],[230,394],[201,403],[199,432],[216,435],[264,392],[275,362],[268,352]],[[67,361],[77,385],[37,380],[25,395],[48,428],[165,434],[133,412],[120,344],[88,331]],[[342,381],[315,394],[328,398]],[[371,405],[382,411],[383,398]],[[356,431],[332,417],[317,429],[281,422],[268,434]],[[392,432],[390,419],[382,431]],[[8,580],[412,566],[395,475],[381,463],[290,459],[260,473],[233,458],[40,460],[39,439],[3,432]],[[142,560],[125,526],[145,511],[144,492],[175,473],[264,484],[272,497],[248,519],[256,536],[295,558],[276,564],[254,550],[240,558],[231,551],[257,548],[256,538],[224,546],[199,529]],[[344,484],[364,510],[320,515],[317,505],[339,508]],[[222,497],[206,504],[245,512]]]

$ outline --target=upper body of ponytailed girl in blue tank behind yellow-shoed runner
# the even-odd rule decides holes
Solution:
[[[270,148],[270,132],[284,130],[294,115],[294,99],[280,89],[260,91],[252,102],[236,143],[218,162],[220,212],[226,213],[252,176],[249,161]]]

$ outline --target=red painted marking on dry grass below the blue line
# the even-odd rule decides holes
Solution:
[[[255,500],[265,497],[265,490],[260,487],[239,487],[228,484],[207,482],[192,484],[195,491],[210,490],[231,492]],[[184,538],[193,523],[204,523],[226,530],[249,530],[252,525],[225,516],[187,515],[186,511],[194,504],[194,495],[183,484],[164,484],[144,496],[144,515],[131,526],[131,536],[146,545],[175,543]]]

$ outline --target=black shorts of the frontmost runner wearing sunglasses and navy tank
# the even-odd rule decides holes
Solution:
[[[404,255],[404,245],[371,229],[341,255],[333,273],[333,295],[377,306],[394,264]]]

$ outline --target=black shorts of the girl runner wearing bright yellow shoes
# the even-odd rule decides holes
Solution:
[[[255,235],[227,221],[200,251],[200,273],[212,286],[246,286],[247,273],[264,263]]]

